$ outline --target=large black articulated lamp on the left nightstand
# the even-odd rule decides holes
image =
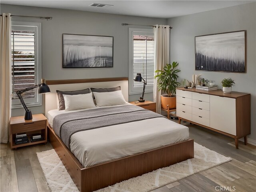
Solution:
[[[32,113],[31,113],[31,110],[28,109],[28,107],[26,106],[26,104],[25,104],[25,102],[24,102],[24,100],[23,100],[21,94],[24,93],[24,92],[26,92],[26,91],[32,90],[32,89],[34,89],[34,88],[37,88],[37,87],[39,87],[39,88],[38,88],[38,93],[39,93],[39,94],[42,94],[42,93],[49,93],[49,92],[50,92],[50,88],[49,88],[48,85],[46,85],[44,82],[45,82],[45,79],[42,79],[42,83],[41,83],[41,84],[33,85],[33,86],[31,86],[31,87],[28,87],[28,88],[23,89],[23,90],[18,90],[18,91],[16,92],[16,94],[18,95],[18,97],[19,97],[19,99],[20,99],[21,104],[23,105],[24,109],[26,110],[26,112],[25,112],[25,117],[24,117],[25,120],[31,120],[31,119],[32,119]]]

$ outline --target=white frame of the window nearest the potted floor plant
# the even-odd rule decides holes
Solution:
[[[141,86],[133,86],[133,35],[135,33],[144,33],[144,35],[147,36],[154,36],[154,29],[129,28],[129,95],[141,94],[143,89],[143,83],[141,83]],[[145,93],[152,93],[153,87],[153,85],[146,85]]]

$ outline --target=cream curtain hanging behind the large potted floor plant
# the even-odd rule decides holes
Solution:
[[[165,64],[170,63],[170,26],[156,25],[154,28],[154,71],[162,70]],[[156,73],[154,73],[154,76]],[[156,102],[156,112],[161,113],[161,90],[158,91],[157,80],[154,79],[154,102]]]

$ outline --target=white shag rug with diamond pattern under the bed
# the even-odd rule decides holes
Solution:
[[[55,150],[36,153],[52,192],[78,192]],[[194,158],[160,168],[96,192],[147,192],[232,160],[194,142]]]

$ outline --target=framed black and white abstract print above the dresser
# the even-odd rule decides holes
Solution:
[[[196,70],[246,72],[245,33],[196,36]]]

